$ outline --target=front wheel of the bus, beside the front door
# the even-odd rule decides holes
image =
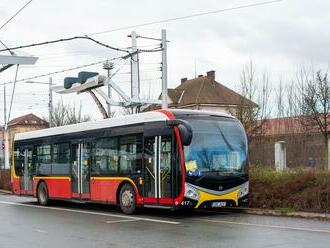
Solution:
[[[126,183],[124,184],[119,193],[120,209],[125,214],[133,214],[136,208],[136,197],[133,187]]]

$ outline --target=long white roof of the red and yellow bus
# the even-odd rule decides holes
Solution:
[[[198,110],[179,110],[179,109],[169,109],[169,112],[172,112],[174,115],[185,115],[185,114],[194,114],[194,115],[216,115],[223,117],[231,117],[232,116],[219,113],[219,112],[207,112],[207,111],[198,111]],[[134,125],[145,122],[153,122],[153,121],[165,121],[168,120],[166,114],[160,111],[150,111],[139,114],[126,115],[116,118],[109,118],[97,121],[90,122],[82,122],[78,124],[46,128],[26,133],[18,133],[15,134],[15,141],[19,140],[28,140],[28,139],[36,139],[48,136],[56,136],[61,134],[70,134],[70,133],[78,133],[85,131],[92,131],[102,128],[110,128],[110,127],[118,127],[125,125]]]

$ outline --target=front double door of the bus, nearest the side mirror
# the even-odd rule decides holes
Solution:
[[[172,136],[147,137],[144,147],[144,203],[172,206]]]

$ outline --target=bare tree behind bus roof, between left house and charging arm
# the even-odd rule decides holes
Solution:
[[[82,114],[81,104],[79,105],[79,108],[76,108],[74,105],[65,105],[63,101],[59,101],[53,109],[51,124],[53,127],[58,127],[90,120],[90,115]]]

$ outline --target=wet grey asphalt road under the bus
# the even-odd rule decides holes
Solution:
[[[0,195],[0,248],[330,247],[330,222],[228,211],[173,213]]]

